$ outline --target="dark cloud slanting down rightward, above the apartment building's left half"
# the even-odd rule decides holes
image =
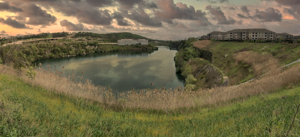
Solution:
[[[205,7],[206,10],[208,10],[208,12],[211,14],[212,18],[214,20],[218,21],[218,24],[220,25],[230,25],[230,24],[234,24],[236,21],[233,18],[226,18],[226,16],[224,16],[224,12],[221,10],[220,7],[212,7],[211,5],[208,5]]]

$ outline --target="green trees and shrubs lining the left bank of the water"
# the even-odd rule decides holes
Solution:
[[[5,60],[7,53],[11,53],[15,68],[32,66],[33,62],[45,58],[58,58],[83,55],[92,52],[114,52],[124,50],[157,50],[153,45],[109,45],[94,42],[52,41],[0,47],[0,63]]]

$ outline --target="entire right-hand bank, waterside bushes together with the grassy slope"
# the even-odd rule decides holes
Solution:
[[[170,45],[179,49],[174,58],[176,70],[183,77],[192,74],[197,79],[194,83],[196,89],[219,85],[219,74],[205,72],[208,66],[214,67],[222,76],[229,77],[229,85],[237,85],[300,58],[300,43],[193,41],[194,39],[187,39],[170,42]],[[191,63],[194,58],[199,57],[210,63]]]

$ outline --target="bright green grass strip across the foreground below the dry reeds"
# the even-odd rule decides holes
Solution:
[[[190,113],[114,112],[0,75],[0,136],[285,136],[300,100],[299,85],[289,87]]]

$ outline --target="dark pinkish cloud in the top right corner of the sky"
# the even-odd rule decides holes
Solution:
[[[289,6],[285,8],[284,12],[294,16],[295,19],[300,20],[300,1],[299,0],[274,0],[280,5]]]

